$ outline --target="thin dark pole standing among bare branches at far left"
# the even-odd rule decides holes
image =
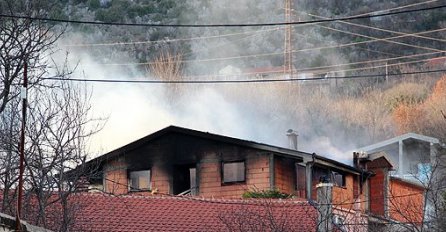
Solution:
[[[23,64],[23,86],[20,90],[22,98],[22,131],[20,134],[20,163],[19,163],[19,186],[17,196],[17,212],[16,212],[16,231],[22,231],[20,217],[22,216],[22,198],[23,198],[23,172],[25,163],[25,127],[26,127],[26,105],[27,105],[27,88],[28,88],[28,62],[25,59]]]

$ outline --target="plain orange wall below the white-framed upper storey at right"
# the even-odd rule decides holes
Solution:
[[[414,224],[422,222],[424,190],[420,186],[391,178],[388,201],[390,218]]]

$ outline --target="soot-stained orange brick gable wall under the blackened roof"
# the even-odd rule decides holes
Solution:
[[[159,149],[158,149],[159,150]],[[270,189],[269,153],[259,153],[256,150],[240,148],[237,146],[207,147],[190,153],[199,154],[195,163],[197,168],[198,195],[203,197],[240,198],[247,190]],[[134,157],[141,157],[144,149],[136,151]],[[108,161],[104,167],[105,191],[111,194],[121,195],[129,193],[128,169],[134,167],[132,155],[126,160],[118,159]],[[166,158],[164,152],[151,152],[146,158],[138,160],[139,163],[147,163],[146,166],[138,166],[151,170],[151,190],[157,193],[173,194],[173,169],[177,159]],[[184,158],[184,157],[183,157]],[[138,158],[140,159],[140,158]],[[222,161],[244,160],[246,176],[243,183],[222,182]],[[191,161],[187,161],[189,163]],[[282,168],[278,168],[282,170]],[[292,173],[291,170],[281,172],[284,175]],[[283,182],[285,177],[279,178]],[[283,186],[291,186],[290,183],[282,183]],[[291,193],[290,187],[287,191]],[[138,194],[145,194],[138,192]],[[150,193],[149,193],[150,194]]]

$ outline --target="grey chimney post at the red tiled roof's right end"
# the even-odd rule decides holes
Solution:
[[[326,179],[316,185],[318,202],[318,232],[333,231],[333,184]]]

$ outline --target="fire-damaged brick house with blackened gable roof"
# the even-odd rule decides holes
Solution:
[[[297,134],[288,137],[292,147],[281,148],[170,126],[89,161],[102,173],[90,180],[90,188],[219,198],[277,189],[316,199],[316,184],[328,179],[342,200],[359,195],[361,170],[298,151]]]

